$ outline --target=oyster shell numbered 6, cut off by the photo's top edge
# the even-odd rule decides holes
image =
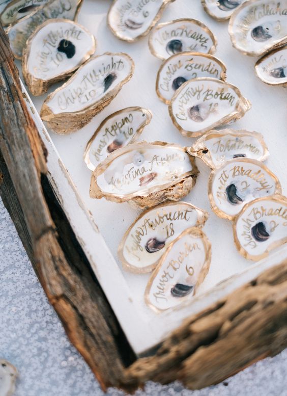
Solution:
[[[121,40],[133,42],[146,36],[161,17],[165,7],[175,0],[113,0],[107,23]]]

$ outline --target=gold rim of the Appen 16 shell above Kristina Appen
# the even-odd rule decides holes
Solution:
[[[140,124],[139,128],[136,129],[134,136],[131,138],[131,140],[129,141],[128,144],[133,143],[133,141],[135,140],[135,138],[136,138],[137,136],[139,136],[139,135],[142,133],[143,129],[145,129],[145,127],[151,122],[152,117],[153,117],[153,113],[152,113],[151,110],[145,109],[145,108],[142,108],[142,107],[139,107],[139,106],[131,106],[131,107],[126,107],[126,108],[124,108],[124,109],[120,109],[120,110],[118,110],[118,111],[116,111],[116,112],[110,114],[110,115],[107,116],[105,119],[103,119],[103,121],[100,123],[100,125],[99,125],[99,126],[97,127],[97,129],[95,130],[94,134],[93,134],[93,135],[91,136],[91,138],[89,139],[87,145],[85,146],[84,153],[83,153],[84,163],[87,165],[87,167],[88,167],[92,172],[94,172],[94,170],[96,169],[96,167],[94,167],[94,168],[92,169],[92,168],[89,166],[89,165],[92,164],[92,162],[90,161],[89,154],[90,154],[91,145],[92,145],[93,141],[95,140],[96,136],[100,133],[100,130],[102,129],[102,127],[105,125],[105,123],[106,123],[107,121],[109,121],[111,118],[113,118],[113,117],[115,117],[115,116],[118,116],[118,115],[121,114],[121,113],[129,112],[129,111],[130,111],[130,112],[132,112],[132,111],[142,111],[142,113],[145,113],[145,114],[147,115],[147,118],[146,118],[146,120],[145,120],[143,123]],[[125,147],[125,146],[124,146],[124,147]],[[109,155],[110,155],[110,154],[109,154]],[[107,155],[107,156],[109,156],[109,155]],[[99,164],[100,164],[100,163],[99,163]],[[99,165],[99,164],[98,164],[98,165]],[[93,164],[92,164],[92,165],[93,165]]]

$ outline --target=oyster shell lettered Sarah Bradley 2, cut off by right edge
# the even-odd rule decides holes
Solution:
[[[240,254],[260,260],[287,242],[287,198],[272,195],[247,203],[233,224],[234,241]]]

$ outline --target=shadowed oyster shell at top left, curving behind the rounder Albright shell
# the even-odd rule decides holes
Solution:
[[[17,59],[21,59],[27,39],[35,32],[40,24],[51,18],[76,19],[82,0],[50,0],[48,3],[15,22],[7,30],[11,50]]]

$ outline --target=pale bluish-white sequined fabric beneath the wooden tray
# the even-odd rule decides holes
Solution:
[[[1,199],[0,358],[18,368],[15,396],[104,395],[49,305]],[[124,393],[109,389],[107,395]],[[287,349],[216,386],[190,391],[178,382],[149,382],[136,392],[145,395],[287,396]]]

